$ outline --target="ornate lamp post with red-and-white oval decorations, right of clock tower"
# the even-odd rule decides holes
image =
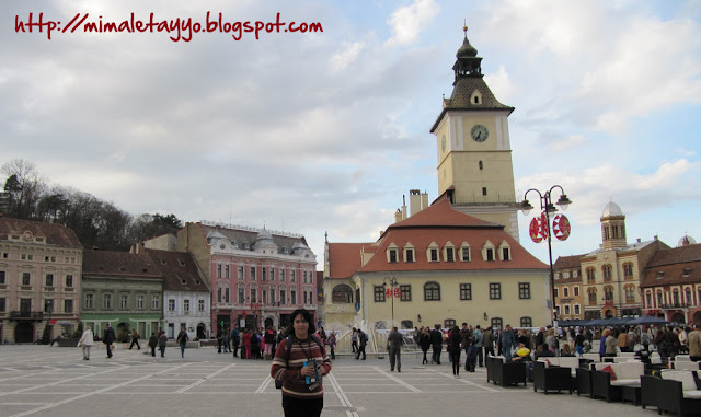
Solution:
[[[548,259],[550,262],[550,290],[551,290],[551,297],[552,297],[553,327],[558,326],[558,308],[555,306],[555,279],[554,279],[554,271],[552,267],[552,244],[551,244],[552,233],[550,228],[550,213],[558,211],[558,208],[552,204],[552,192],[555,188],[560,189],[560,198],[558,199],[558,202],[555,202],[555,205],[562,207],[563,210],[566,210],[567,207],[572,204],[572,201],[567,198],[565,190],[560,185],[553,185],[545,193],[541,193],[536,188],[531,188],[524,194],[524,201],[520,205],[521,211],[524,212],[524,215],[528,215],[528,212],[533,209],[533,206],[531,206],[530,202],[528,202],[528,200],[526,199],[526,197],[528,196],[528,193],[536,192],[538,194],[538,197],[540,198],[540,209],[542,211],[542,216],[544,216],[544,219],[542,219],[542,216],[541,216],[539,231],[536,231],[537,228],[533,225],[535,223],[531,222],[530,234],[531,234],[531,239],[536,243],[540,242],[540,240],[537,240],[538,232],[540,233],[540,236],[543,236],[548,240]],[[566,218],[565,218],[565,222],[566,222]],[[536,224],[537,223],[538,221],[536,221]],[[567,230],[566,230],[566,233],[564,233],[564,238],[558,236],[558,239],[560,240],[567,239],[567,236],[570,235],[568,222],[566,222],[566,227],[567,227]]]

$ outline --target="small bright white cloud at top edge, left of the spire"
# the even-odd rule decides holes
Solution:
[[[440,5],[435,0],[415,0],[410,5],[394,10],[387,23],[392,28],[388,45],[407,45],[418,38],[421,31],[438,14]]]

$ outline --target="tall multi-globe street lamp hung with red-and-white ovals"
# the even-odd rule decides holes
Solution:
[[[526,194],[524,194],[524,201],[520,205],[520,208],[524,215],[528,216],[530,210],[533,209],[533,206],[531,206],[530,202],[528,202],[528,200],[526,199],[526,196],[528,196],[528,193],[536,192],[538,194],[538,197],[540,198],[541,215],[539,218],[533,218],[531,220],[529,229],[530,229],[530,239],[533,242],[540,243],[543,240],[548,241],[548,258],[550,260],[550,289],[551,289],[551,297],[552,297],[551,304],[552,304],[553,326],[558,326],[558,308],[555,306],[555,280],[554,280],[554,271],[552,267],[552,246],[551,246],[552,231],[555,232],[555,238],[558,238],[561,241],[564,241],[570,236],[570,221],[564,215],[556,215],[553,220],[552,229],[550,228],[550,213],[554,213],[555,211],[558,211],[558,208],[555,207],[555,205],[552,204],[552,192],[555,188],[559,188],[561,193],[560,198],[558,199],[558,202],[555,202],[555,205],[560,206],[563,210],[566,210],[567,207],[572,204],[572,201],[567,198],[567,195],[565,194],[564,189],[562,189],[562,186],[560,185],[553,185],[544,194],[539,192],[536,188],[531,188],[527,190]]]

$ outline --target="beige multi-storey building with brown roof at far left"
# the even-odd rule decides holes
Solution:
[[[72,230],[0,217],[0,340],[78,328],[83,248]]]

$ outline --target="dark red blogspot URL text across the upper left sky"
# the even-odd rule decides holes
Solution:
[[[72,33],[166,33],[173,42],[191,42],[194,34],[221,33],[230,34],[234,40],[241,40],[244,34],[252,34],[257,40],[262,33],[317,33],[323,32],[320,22],[280,22],[280,13],[275,21],[227,21],[222,13],[207,12],[204,22],[194,22],[187,19],[159,20],[154,13],[149,14],[148,20],[138,19],[131,13],[129,19],[123,21],[106,21],[102,16],[97,20],[90,19],[90,13],[76,13],[66,24],[61,21],[44,19],[44,13],[30,13],[24,16],[14,16],[15,33],[46,33],[50,40],[56,34]]]

